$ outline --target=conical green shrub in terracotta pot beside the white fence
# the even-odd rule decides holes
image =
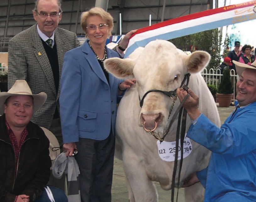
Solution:
[[[217,98],[220,107],[229,107],[233,95],[232,82],[230,78],[229,69],[223,70],[220,85],[217,90]]]

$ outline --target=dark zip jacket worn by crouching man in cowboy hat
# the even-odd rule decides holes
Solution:
[[[36,124],[27,124],[28,135],[21,146],[17,176],[15,153],[5,125],[5,114],[0,117],[0,201],[13,202],[16,195],[26,194],[29,201],[41,195],[50,177],[52,165],[49,140]]]

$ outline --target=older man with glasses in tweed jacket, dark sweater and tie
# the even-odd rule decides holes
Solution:
[[[32,93],[45,92],[48,95],[31,121],[49,129],[62,145],[59,85],[63,58],[68,50],[80,43],[75,33],[58,28],[62,18],[60,0],[36,0],[33,17],[36,24],[9,42],[8,88],[18,79],[26,80]],[[49,184],[65,190],[65,177],[60,180],[51,177]]]

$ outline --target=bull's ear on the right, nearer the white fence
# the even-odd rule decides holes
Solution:
[[[205,51],[195,51],[189,55],[187,61],[188,72],[197,73],[210,62],[211,56]]]

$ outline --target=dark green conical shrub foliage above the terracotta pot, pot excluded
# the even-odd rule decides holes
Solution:
[[[217,92],[221,93],[221,94],[232,94],[233,93],[233,87],[232,87],[232,83],[231,83],[229,69],[223,70],[223,76],[221,78],[221,83],[218,86]]]

